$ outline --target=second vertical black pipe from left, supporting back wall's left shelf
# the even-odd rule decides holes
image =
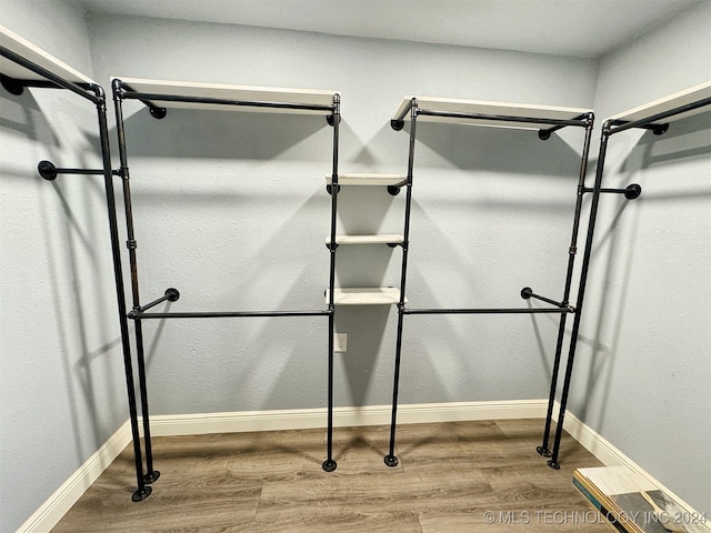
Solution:
[[[119,138],[119,158],[121,161],[121,178],[123,183],[123,205],[126,211],[126,230],[128,237],[129,262],[131,266],[131,293],[133,309],[139,309],[140,293],[138,282],[138,261],[136,258],[136,232],[133,230],[133,210],[131,204],[131,185],[126,150],[126,131],[123,128],[123,109],[120,94],[120,81],[113,80],[113,104],[116,109],[116,128]],[[146,483],[153,483],[160,477],[160,472],[153,469],[153,451],[151,445],[150,416],[148,409],[148,386],[146,381],[146,355],[143,349],[143,325],[140,319],[133,320],[136,330],[136,355],[138,363],[139,393],[141,398],[141,416],[143,419],[143,442],[146,447]]]

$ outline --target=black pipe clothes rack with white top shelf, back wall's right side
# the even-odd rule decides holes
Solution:
[[[424,314],[538,314],[553,313],[560,315],[558,341],[555,344],[555,354],[553,360],[553,370],[550,385],[550,396],[548,403],[548,412],[545,416],[545,429],[543,443],[538,447],[541,455],[550,456],[549,465],[558,469],[558,451],[560,445],[560,428],[562,428],[562,416],[564,412],[564,402],[559,415],[559,431],[555,439],[555,445],[552,452],[549,450],[549,434],[553,413],[553,402],[555,399],[555,390],[558,384],[558,374],[560,369],[561,355],[563,352],[563,341],[565,333],[565,321],[568,314],[575,315],[578,323],[582,299],[579,299],[578,305],[572,306],[569,303],[570,290],[573,278],[573,265],[578,250],[578,231],[580,227],[580,217],[582,210],[582,199],[584,193],[591,189],[585,188],[585,170],[588,165],[588,154],[590,150],[590,140],[594,122],[594,114],[591,110],[573,109],[551,105],[533,105],[519,103],[502,103],[474,100],[459,100],[447,98],[403,98],[400,107],[390,121],[393,130],[400,131],[404,128],[405,121],[410,121],[410,144],[408,157],[408,175],[407,175],[407,198],[404,213],[404,239],[402,253],[402,269],[400,278],[400,300],[398,305],[398,333],[395,341],[395,361],[393,376],[393,394],[392,394],[392,415],[390,425],[390,450],[384,456],[384,463],[388,466],[395,466],[398,457],[394,455],[395,426],[398,413],[398,389],[400,381],[400,363],[402,355],[402,326],[405,315],[424,315]],[[568,270],[563,285],[563,293],[560,300],[547,298],[533,292],[529,286],[521,289],[520,295],[524,300],[540,300],[549,306],[533,308],[465,308],[465,309],[422,309],[407,305],[405,284],[408,281],[408,251],[410,239],[410,213],[412,203],[412,184],[414,171],[414,149],[417,140],[417,129],[419,122],[448,122],[453,124],[481,125],[489,128],[514,128],[529,131],[537,131],[539,139],[548,140],[551,134],[562,128],[573,127],[584,130],[584,140],[580,158],[580,172],[577,188],[575,209],[573,214],[573,229],[570,247],[568,249]],[[600,191],[597,191],[599,194]],[[611,191],[612,192],[612,191]],[[630,185],[628,189],[615,190],[614,192],[624,193],[628,198],[637,198],[639,195],[639,187]],[[583,268],[587,268],[587,259]],[[563,396],[567,395],[570,386],[570,373],[565,375],[563,382]]]

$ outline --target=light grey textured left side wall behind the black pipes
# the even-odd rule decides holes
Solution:
[[[83,13],[0,2],[0,23],[91,74]],[[127,414],[103,182],[49,183],[37,163],[100,167],[94,105],[0,89],[0,522],[14,531]]]

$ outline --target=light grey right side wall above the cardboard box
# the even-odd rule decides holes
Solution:
[[[711,2],[604,58],[600,122],[711,79]],[[613,135],[569,406],[701,512],[711,494],[711,113]]]

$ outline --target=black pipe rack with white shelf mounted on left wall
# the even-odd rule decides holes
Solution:
[[[133,451],[136,455],[136,470],[138,490],[133,493],[133,500],[139,501],[148,496],[150,486],[146,486],[142,474],[141,446],[139,440],[139,426],[136,403],[136,385],[133,381],[133,363],[129,343],[129,326],[127,318],[126,298],[123,292],[123,278],[121,268],[121,251],[119,244],[119,231],[117,222],[116,195],[113,190],[113,177],[120,175],[120,170],[111,169],[111,154],[109,152],[109,131],[107,127],[107,101],[101,86],[90,80],[82,73],[72,69],[59,59],[36,47],[17,33],[0,26],[0,81],[2,87],[14,95],[22,94],[26,87],[41,89],[64,89],[88,100],[97,109],[99,121],[99,140],[102,158],[101,169],[60,169],[50,161],[41,161],[38,170],[42,178],[54,180],[59,174],[98,174],[103,175],[107,211],[109,215],[109,234],[111,238],[111,253],[113,258],[113,274],[116,282],[117,303],[119,311],[119,325],[121,332],[121,346],[123,351],[123,365],[126,370],[126,383],[129,396],[129,412],[131,416],[131,433]]]

